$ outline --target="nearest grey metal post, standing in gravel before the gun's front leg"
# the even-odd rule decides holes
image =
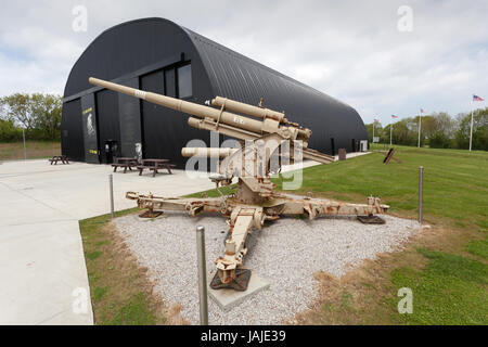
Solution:
[[[205,228],[196,227],[196,262],[198,265],[200,325],[208,325],[207,266],[205,260]]]

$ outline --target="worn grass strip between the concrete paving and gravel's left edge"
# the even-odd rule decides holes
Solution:
[[[117,217],[138,209],[116,213]],[[170,323],[170,313],[153,293],[147,269],[140,267],[104,215],[79,222],[90,282],[94,322],[101,325]]]

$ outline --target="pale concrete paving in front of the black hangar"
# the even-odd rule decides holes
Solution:
[[[206,175],[174,172],[114,174],[115,209],[134,207],[127,191],[169,197],[215,188]],[[110,213],[110,174],[106,165],[0,162],[0,324],[93,324],[78,220]]]

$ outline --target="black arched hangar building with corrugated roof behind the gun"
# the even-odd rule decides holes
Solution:
[[[210,134],[188,115],[88,82],[97,77],[204,104],[216,95],[284,111],[310,128],[309,147],[356,152],[368,139],[349,105],[164,18],[123,23],[102,33],[73,67],[64,90],[62,153],[73,160],[115,156],[166,158],[182,167],[181,147]],[[223,137],[220,137],[223,140]],[[362,141],[362,142],[361,142]]]

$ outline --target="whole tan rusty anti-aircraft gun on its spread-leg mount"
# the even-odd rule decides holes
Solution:
[[[224,254],[215,261],[217,273],[210,283],[213,288],[247,288],[251,270],[243,268],[243,258],[247,253],[246,240],[253,229],[261,230],[266,220],[275,220],[280,216],[304,216],[308,219],[319,216],[358,216],[362,220],[384,222],[375,215],[386,213],[389,206],[381,204],[377,197],[370,196],[368,204],[346,204],[274,191],[270,175],[278,172],[284,163],[305,158],[329,164],[334,162],[334,157],[308,149],[311,130],[290,121],[284,113],[264,107],[262,100],[258,106],[253,106],[216,97],[206,102],[207,105],[201,105],[97,78],[90,78],[89,81],[190,114],[190,126],[241,141],[240,147],[183,147],[181,151],[185,157],[220,159],[218,175],[210,176],[210,179],[219,190],[219,187],[230,185],[237,178],[235,193],[202,198],[165,198],[136,192],[126,194],[127,198],[137,201],[140,208],[151,211],[182,210],[190,216],[205,211],[228,217]]]

